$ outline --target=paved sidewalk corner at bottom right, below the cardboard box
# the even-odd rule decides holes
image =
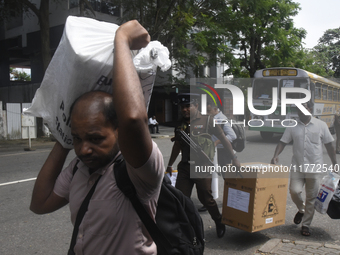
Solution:
[[[340,254],[340,245],[290,241],[281,239],[270,239],[254,255],[275,254],[275,255],[295,255],[295,254]]]

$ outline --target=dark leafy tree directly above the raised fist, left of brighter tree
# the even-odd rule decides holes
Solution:
[[[137,19],[170,51],[173,70],[178,77],[189,77],[193,70],[202,76],[203,66],[230,59],[231,49],[223,36],[224,26],[218,23],[218,13],[226,8],[224,0],[111,0],[123,8],[121,22]],[[183,81],[183,80],[182,80]]]

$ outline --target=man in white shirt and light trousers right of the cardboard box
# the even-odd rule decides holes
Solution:
[[[312,112],[311,103],[302,104],[309,112]],[[324,172],[323,150],[325,145],[330,157],[333,169],[337,164],[336,154],[332,142],[334,141],[327,124],[311,115],[305,115],[298,109],[299,120],[295,127],[287,127],[279,144],[277,145],[272,164],[279,162],[279,154],[285,146],[293,141],[292,168],[290,171],[290,194],[298,208],[294,217],[294,223],[302,222],[301,234],[309,236],[309,227],[314,216],[314,202],[319,190],[319,181]],[[327,167],[328,168],[328,167]],[[306,199],[302,198],[302,189],[305,186]]]

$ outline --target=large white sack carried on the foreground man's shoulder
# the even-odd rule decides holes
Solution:
[[[74,100],[92,90],[112,92],[113,41],[117,29],[112,23],[68,17],[32,106],[24,112],[43,118],[44,124],[65,148],[73,148],[69,108]],[[164,71],[170,68],[169,52],[153,41],[147,48],[131,54],[148,107],[157,66]]]

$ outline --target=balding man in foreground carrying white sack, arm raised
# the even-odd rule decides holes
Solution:
[[[165,169],[149,134],[145,101],[130,54],[149,41],[137,21],[117,30],[113,96],[89,92],[76,100],[71,108],[71,131],[77,158],[61,171],[69,150],[57,142],[38,175],[30,209],[44,214],[70,203],[73,225],[84,198],[95,187],[69,254],[157,253],[113,174],[115,160],[122,154],[140,201],[154,217]]]

